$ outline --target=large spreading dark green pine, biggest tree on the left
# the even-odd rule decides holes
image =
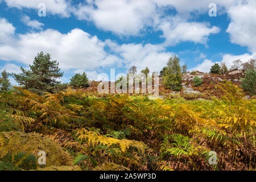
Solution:
[[[43,92],[56,93],[65,88],[64,84],[57,81],[57,78],[63,76],[60,72],[59,63],[51,61],[51,56],[43,52],[38,53],[34,62],[30,65],[30,70],[20,67],[22,73],[12,73],[19,85],[23,85],[24,89],[30,90],[37,94]]]

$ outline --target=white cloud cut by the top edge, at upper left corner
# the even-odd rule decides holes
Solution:
[[[27,8],[27,9],[35,9],[38,10],[39,3],[46,4],[46,12],[47,14],[52,15],[60,15],[63,17],[69,16],[69,9],[70,6],[67,1],[65,0],[4,0],[9,7],[16,7],[18,9]],[[46,14],[46,15],[47,15]]]

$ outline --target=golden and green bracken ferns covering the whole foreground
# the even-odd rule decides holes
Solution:
[[[218,87],[192,101],[15,88],[0,95],[0,170],[253,170],[255,100]]]

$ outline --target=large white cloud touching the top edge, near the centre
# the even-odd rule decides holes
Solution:
[[[81,20],[92,20],[96,26],[118,35],[138,35],[153,24],[155,3],[148,0],[96,0],[78,6],[73,13]]]

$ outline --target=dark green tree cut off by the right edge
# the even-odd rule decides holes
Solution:
[[[246,91],[253,95],[256,94],[256,71],[254,69],[247,69],[245,78],[241,78],[241,86]]]

